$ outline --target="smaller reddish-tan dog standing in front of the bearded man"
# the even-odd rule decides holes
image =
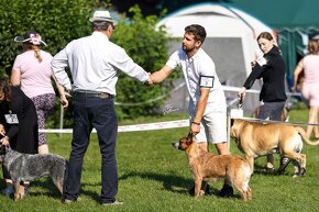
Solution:
[[[249,187],[252,170],[245,159],[234,155],[213,155],[205,152],[193,142],[191,135],[172,145],[186,153],[195,180],[195,198],[205,193],[209,180],[216,181],[219,178],[227,178],[244,201],[252,198]]]

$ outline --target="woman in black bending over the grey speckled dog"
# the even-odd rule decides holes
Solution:
[[[37,116],[35,107],[22,90],[9,86],[7,79],[0,79],[0,142],[12,149],[36,154],[38,145]],[[6,194],[13,192],[10,175],[2,167],[6,179]]]

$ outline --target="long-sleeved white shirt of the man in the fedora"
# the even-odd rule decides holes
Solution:
[[[67,66],[73,76],[73,85],[65,71]],[[52,69],[58,83],[74,91],[116,94],[119,70],[141,82],[148,79],[148,74],[101,32],[70,42],[54,56]]]

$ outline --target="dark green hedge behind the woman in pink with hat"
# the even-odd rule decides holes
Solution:
[[[44,49],[54,55],[90,32],[88,18],[95,5],[94,0],[0,0],[1,75],[10,75],[16,54],[22,52],[15,36],[35,30],[48,45]]]

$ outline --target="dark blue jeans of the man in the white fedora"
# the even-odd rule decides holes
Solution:
[[[101,203],[113,202],[118,193],[116,143],[118,119],[112,98],[74,94],[72,152],[64,186],[64,199],[76,200],[80,190],[84,156],[92,129],[97,130],[101,153]]]

